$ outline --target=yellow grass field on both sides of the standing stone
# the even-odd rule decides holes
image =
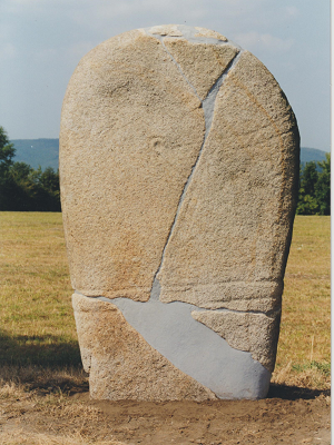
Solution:
[[[81,370],[61,214],[0,212],[0,365]],[[297,216],[274,383],[330,387],[330,217]]]

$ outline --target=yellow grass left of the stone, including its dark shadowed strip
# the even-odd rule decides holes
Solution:
[[[0,363],[79,365],[61,214],[0,214]]]

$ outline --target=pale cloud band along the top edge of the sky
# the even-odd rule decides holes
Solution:
[[[70,20],[88,29],[107,27],[121,21],[140,27],[144,23],[184,23],[195,21],[203,24],[207,19],[220,22],[252,17],[267,0],[1,0],[3,13],[26,18]],[[273,1],[273,0],[269,0]],[[137,20],[136,20],[137,19]],[[129,24],[130,24],[129,23]]]

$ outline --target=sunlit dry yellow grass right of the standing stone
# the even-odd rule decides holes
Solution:
[[[330,387],[330,217],[296,217],[284,280],[274,382]]]

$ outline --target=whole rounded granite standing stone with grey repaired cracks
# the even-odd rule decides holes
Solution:
[[[138,29],[81,59],[60,178],[94,398],[266,396],[298,162],[278,83],[218,32]]]

